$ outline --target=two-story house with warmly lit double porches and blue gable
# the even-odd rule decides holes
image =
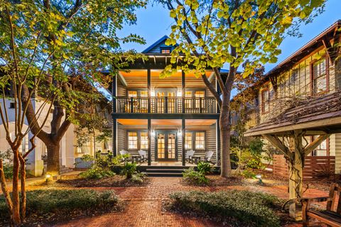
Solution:
[[[216,162],[220,136],[215,98],[194,74],[178,71],[160,78],[175,48],[165,44],[167,38],[142,52],[147,59],[136,60],[114,77],[114,154],[146,150],[148,165],[185,165],[187,150],[195,150],[202,159],[211,150]],[[212,70],[206,75],[217,86]]]

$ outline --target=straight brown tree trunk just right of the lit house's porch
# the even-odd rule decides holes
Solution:
[[[231,126],[229,124],[229,102],[228,97],[223,97],[222,107],[220,109],[220,161],[221,170],[220,177],[230,177],[231,176],[231,160],[230,160],[230,150],[229,150],[229,137]]]

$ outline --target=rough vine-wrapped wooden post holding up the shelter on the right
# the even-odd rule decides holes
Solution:
[[[303,195],[303,160],[305,152],[302,145],[302,131],[295,131],[293,137],[289,139],[289,143],[293,162],[289,162],[289,199],[296,199],[301,198]],[[289,215],[295,218],[296,221],[301,220],[301,204],[291,204],[289,206]]]

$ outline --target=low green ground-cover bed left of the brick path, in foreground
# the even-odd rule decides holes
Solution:
[[[28,216],[50,213],[70,214],[70,212],[112,209],[118,204],[114,191],[98,192],[91,189],[48,189],[27,192]],[[0,196],[0,219],[9,218],[4,196]]]

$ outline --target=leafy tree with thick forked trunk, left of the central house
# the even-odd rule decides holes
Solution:
[[[121,52],[119,44],[144,43],[144,40],[133,34],[119,38],[117,31],[124,23],[134,23],[134,10],[142,6],[144,0],[1,1],[4,19],[0,29],[6,30],[1,45],[10,46],[9,38],[13,36],[16,52],[32,59],[31,63],[26,60],[29,66],[43,68],[43,74],[48,77],[42,92],[53,90],[55,96],[50,131],[41,130],[38,123],[33,123],[37,122],[33,104],[30,99],[23,100],[32,133],[47,147],[48,172],[59,171],[60,140],[72,123],[75,106],[83,99],[82,93],[69,82],[70,70],[82,75],[82,79],[100,83],[100,69],[120,68],[125,64],[121,62],[122,55],[126,55],[126,61],[132,60],[134,52]],[[4,17],[6,13],[2,12],[6,11],[12,23]],[[18,43],[23,46],[17,47]],[[24,91],[27,89],[23,86]]]

